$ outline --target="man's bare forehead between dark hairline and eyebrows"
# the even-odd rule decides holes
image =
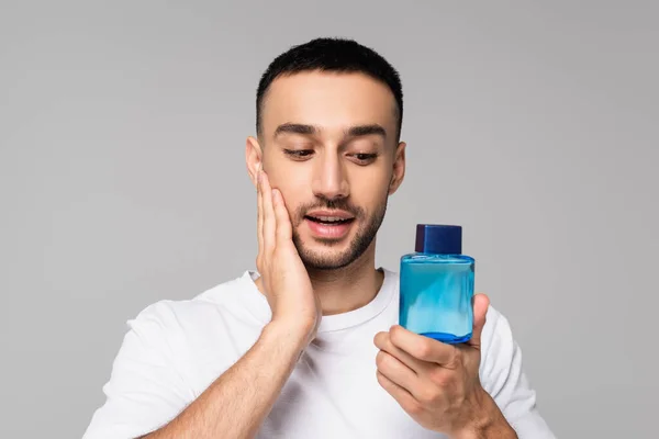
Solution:
[[[309,71],[278,77],[263,106],[264,134],[283,123],[343,131],[380,124],[395,132],[395,98],[387,85],[357,72]]]

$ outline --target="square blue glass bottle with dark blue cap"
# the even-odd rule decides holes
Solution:
[[[446,344],[471,338],[474,259],[461,252],[460,226],[416,226],[415,252],[401,258],[401,326]]]

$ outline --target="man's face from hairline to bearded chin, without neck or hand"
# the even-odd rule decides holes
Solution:
[[[314,71],[272,82],[260,159],[306,267],[338,269],[372,248],[404,169],[391,91],[364,75]]]

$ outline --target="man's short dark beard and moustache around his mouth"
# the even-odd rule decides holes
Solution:
[[[383,198],[383,200],[377,205],[376,211],[369,217],[366,217],[366,214],[362,209],[351,205],[346,199],[340,200],[325,200],[322,203],[315,203],[313,205],[304,205],[300,206],[297,210],[295,223],[293,226],[293,244],[298,249],[298,254],[300,255],[300,259],[308,269],[313,270],[338,270],[345,268],[356,261],[366,249],[371,245],[375,239],[380,226],[382,225],[382,221],[384,219],[384,214],[387,213],[387,202],[388,194]],[[323,239],[319,240],[323,243],[325,249],[314,250],[302,243],[300,238],[300,234],[298,228],[300,224],[304,221],[304,214],[313,209],[328,209],[328,210],[342,210],[349,212],[355,216],[355,223],[357,223],[357,232],[355,233],[355,237],[350,240],[350,244],[347,249],[343,251],[332,251],[333,247],[340,245],[340,241],[336,241],[333,239]]]

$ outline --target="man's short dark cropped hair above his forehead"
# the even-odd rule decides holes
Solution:
[[[354,40],[321,37],[292,46],[277,56],[263,74],[256,92],[256,132],[261,134],[263,101],[279,76],[302,71],[361,72],[387,85],[395,98],[396,139],[403,124],[403,88],[399,72],[381,55]],[[396,140],[398,143],[398,140]]]

